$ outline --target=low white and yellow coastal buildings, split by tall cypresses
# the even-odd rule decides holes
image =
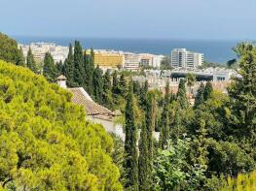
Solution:
[[[31,43],[30,45],[19,45],[24,56],[31,48],[36,60],[42,61],[46,52],[50,52],[55,62],[63,62],[68,55],[68,47],[56,46],[54,43]],[[89,51],[89,50],[88,50]],[[121,65],[122,68],[137,71],[141,66],[160,68],[164,55],[150,53],[132,53],[108,49],[94,49],[95,64],[102,68],[115,68]]]

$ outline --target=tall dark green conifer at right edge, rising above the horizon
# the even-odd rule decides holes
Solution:
[[[237,137],[256,145],[256,47],[249,43],[235,48],[238,54],[238,76],[229,87],[231,125]]]

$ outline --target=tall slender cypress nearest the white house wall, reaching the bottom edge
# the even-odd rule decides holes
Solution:
[[[126,106],[126,140],[125,140],[125,151],[126,151],[126,163],[125,168],[127,169],[127,185],[126,188],[130,190],[138,190],[138,153],[136,148],[137,143],[137,127],[135,126],[134,118],[134,101],[132,93],[132,82],[129,82],[128,86],[128,97]]]

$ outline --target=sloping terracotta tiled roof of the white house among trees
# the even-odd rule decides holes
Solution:
[[[83,106],[88,115],[113,115],[112,111],[91,101],[85,94],[87,92],[84,90],[84,88],[68,88],[68,90],[73,93],[71,101],[77,105]]]

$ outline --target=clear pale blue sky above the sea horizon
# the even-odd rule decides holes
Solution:
[[[256,40],[256,0],[0,0],[12,36]]]

